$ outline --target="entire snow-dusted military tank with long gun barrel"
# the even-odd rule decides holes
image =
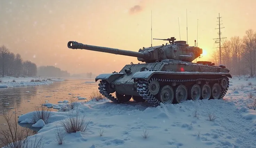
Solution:
[[[125,103],[131,98],[157,106],[181,103],[185,100],[222,99],[232,78],[224,65],[210,61],[192,61],[202,49],[189,46],[186,41],[169,41],[169,44],[139,49],[138,52],[99,47],[69,41],[68,48],[86,49],[110,54],[137,57],[142,63],[125,65],[120,72],[100,74],[99,92],[113,102]],[[115,92],[115,96],[111,93]]]

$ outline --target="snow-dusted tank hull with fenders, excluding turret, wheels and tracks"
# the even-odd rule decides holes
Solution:
[[[157,83],[159,90],[164,86],[168,86],[173,89],[173,91],[176,91],[179,90],[177,87],[181,85],[187,89],[187,92],[185,93],[188,93],[192,85],[221,85],[222,79],[225,79],[225,81],[227,80],[226,83],[229,83],[229,77],[231,78],[232,76],[227,68],[166,60],[159,63],[129,64],[123,67],[119,73],[101,74],[98,75],[95,80],[102,80],[108,83],[108,93],[116,92],[116,94],[124,96],[144,98],[144,91],[141,92],[141,90],[145,88],[150,90],[149,83],[152,81]],[[144,85],[144,87],[140,86],[140,83],[141,85]],[[227,88],[223,88],[219,91],[224,91],[224,89],[227,90]],[[222,96],[224,93],[225,92],[222,93]],[[153,102],[153,104],[159,104],[161,102],[159,94],[151,94],[151,97],[156,99],[156,102]]]

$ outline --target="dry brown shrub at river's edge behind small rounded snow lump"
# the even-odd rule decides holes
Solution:
[[[52,108],[44,106],[43,103],[40,103],[39,106],[35,106],[34,108],[32,122],[35,124],[38,120],[42,119],[47,124],[49,117],[53,115]]]

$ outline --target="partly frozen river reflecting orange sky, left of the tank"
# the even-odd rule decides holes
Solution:
[[[95,82],[94,79],[72,79],[54,82],[49,85],[0,88],[0,128],[7,128],[3,120],[3,113],[8,112],[9,115],[14,116],[16,109],[16,115],[19,116],[33,111],[34,107],[39,105],[40,102],[48,101],[49,103],[58,104],[58,101],[70,100],[69,93],[89,98],[92,91],[98,91],[98,82]]]

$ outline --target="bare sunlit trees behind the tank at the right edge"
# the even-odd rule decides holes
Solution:
[[[219,49],[214,51],[211,60],[215,65],[219,65]],[[242,38],[233,36],[224,41],[221,48],[221,64],[224,64],[232,75],[256,76],[256,32],[249,29]]]

